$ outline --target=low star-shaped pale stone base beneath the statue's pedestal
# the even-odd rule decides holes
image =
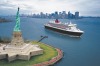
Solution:
[[[0,59],[7,58],[8,61],[16,59],[29,60],[31,56],[43,54],[43,50],[38,45],[23,44],[22,46],[1,45]]]

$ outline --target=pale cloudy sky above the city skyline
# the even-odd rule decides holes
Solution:
[[[0,0],[0,15],[79,11],[80,16],[100,16],[100,0]]]

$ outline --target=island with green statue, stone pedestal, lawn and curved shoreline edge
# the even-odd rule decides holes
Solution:
[[[50,54],[51,53],[51,54]],[[31,58],[34,56],[34,58]],[[21,62],[25,62],[21,66],[33,65],[33,66],[49,66],[55,64],[57,61],[62,59],[63,52],[62,50],[49,46],[47,44],[30,41],[25,43],[22,37],[20,29],[20,16],[19,8],[16,14],[16,25],[13,29],[13,36],[10,43],[0,43],[0,60],[7,59],[9,62],[20,60],[31,60],[30,61],[20,61],[12,62],[10,65],[20,66]],[[34,60],[33,60],[34,59]],[[29,64],[31,63],[31,64]],[[4,66],[10,66],[9,63],[4,63]],[[2,65],[2,64],[0,64]]]

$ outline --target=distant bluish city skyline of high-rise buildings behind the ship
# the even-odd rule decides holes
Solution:
[[[30,14],[30,15],[21,14],[21,16],[23,16],[23,17],[28,16],[28,17],[32,17],[32,18],[49,18],[49,19],[79,19],[79,18],[81,18],[81,16],[79,16],[78,11],[76,11],[75,13],[71,13],[70,11],[68,11],[68,12],[55,11],[53,13],[40,12],[39,14],[34,13],[34,14]]]

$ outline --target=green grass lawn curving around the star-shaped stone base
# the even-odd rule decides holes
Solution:
[[[52,57],[57,56],[55,48],[40,42],[37,43],[36,41],[33,41],[32,43],[38,44],[44,50],[44,53],[42,55],[31,57],[29,61],[15,60],[9,63],[7,60],[0,60],[0,66],[32,66],[33,64],[48,61]]]

